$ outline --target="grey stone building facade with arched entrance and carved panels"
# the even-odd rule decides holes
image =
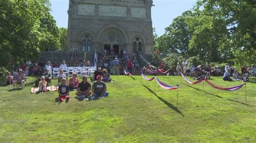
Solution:
[[[152,0],[70,0],[68,50],[152,53]]]

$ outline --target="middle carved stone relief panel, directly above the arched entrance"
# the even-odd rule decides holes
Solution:
[[[99,5],[100,16],[127,17],[125,6]]]

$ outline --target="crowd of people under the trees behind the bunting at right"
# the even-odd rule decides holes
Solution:
[[[190,65],[190,66],[188,66]],[[146,73],[147,69],[153,71],[154,67],[146,65],[142,69],[142,73]],[[193,63],[188,64],[186,60],[184,60],[181,65],[180,63],[177,63],[177,66],[171,66],[170,68],[166,68],[164,63],[161,62],[159,67],[159,70],[165,71],[167,70],[167,75],[181,75],[183,73],[185,76],[193,77],[195,80],[198,80],[202,77],[206,79],[211,79],[211,76],[223,76],[224,81],[245,81],[248,82],[249,78],[248,76],[251,75],[252,69],[256,69],[255,66],[248,66],[246,68],[245,66],[241,67],[241,73],[238,73],[238,70],[231,67],[229,63],[226,63],[226,66],[224,69],[220,69],[219,66],[212,67],[210,64],[206,64],[204,66],[194,66]],[[233,78],[231,78],[233,77]]]

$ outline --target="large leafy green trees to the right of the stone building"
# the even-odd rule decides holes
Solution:
[[[199,0],[173,19],[154,50],[199,61],[249,65],[256,62],[256,2]],[[160,54],[156,55],[159,56]]]

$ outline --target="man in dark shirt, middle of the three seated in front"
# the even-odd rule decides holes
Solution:
[[[91,94],[91,84],[87,82],[87,77],[84,76],[83,81],[80,82],[77,87],[77,98],[83,100],[85,97],[88,97]]]

